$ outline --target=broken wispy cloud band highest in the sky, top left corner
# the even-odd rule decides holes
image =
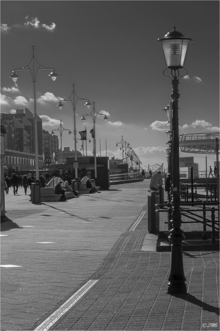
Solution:
[[[47,25],[45,23],[40,23],[39,19],[37,17],[25,17],[26,22],[24,22],[23,24],[13,24],[12,26],[9,26],[8,24],[1,24],[1,31],[2,32],[9,32],[9,30],[11,30],[12,28],[34,28],[35,30],[47,30],[47,31],[54,31],[56,24],[54,22],[52,22],[50,25]]]

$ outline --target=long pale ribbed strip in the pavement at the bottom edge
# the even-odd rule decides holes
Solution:
[[[72,295],[62,306],[60,306],[51,316],[41,323],[34,331],[47,331],[65,312],[67,312],[82,296],[91,289],[98,279],[91,279]]]

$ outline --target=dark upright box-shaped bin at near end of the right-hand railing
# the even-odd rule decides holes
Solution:
[[[159,213],[156,213],[155,205],[159,204],[159,196],[156,196],[155,191],[151,191],[148,196],[148,231],[155,233],[159,232]]]

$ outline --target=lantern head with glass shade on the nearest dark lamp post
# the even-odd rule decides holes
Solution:
[[[168,32],[157,42],[162,45],[166,67],[168,69],[181,69],[185,64],[189,42],[193,40],[176,31],[175,26],[173,29],[174,31]]]

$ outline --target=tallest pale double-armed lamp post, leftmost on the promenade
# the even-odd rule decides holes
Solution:
[[[26,67],[19,68],[19,69],[14,69],[12,71],[12,74],[11,74],[10,78],[12,78],[12,80],[14,82],[16,82],[18,80],[18,78],[20,77],[17,74],[18,70],[29,70],[31,72],[31,75],[32,75],[33,85],[34,85],[35,167],[36,167],[36,179],[39,179],[38,137],[37,137],[37,103],[36,103],[37,74],[38,74],[39,70],[52,70],[51,73],[49,74],[49,77],[51,77],[53,81],[56,80],[56,78],[59,77],[59,75],[56,73],[54,68],[43,67],[37,62],[37,60],[35,58],[35,45],[32,45],[32,51],[33,51],[33,55],[32,55],[31,62]],[[32,68],[30,67],[31,65],[32,65]]]

